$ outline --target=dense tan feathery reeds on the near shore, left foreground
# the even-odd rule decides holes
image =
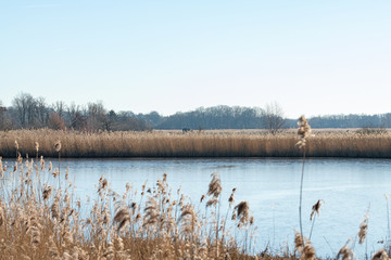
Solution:
[[[235,205],[235,190],[222,197],[217,173],[194,205],[166,174],[123,194],[102,176],[96,197],[80,199],[43,158],[0,167],[0,259],[295,259],[255,252],[249,205]]]

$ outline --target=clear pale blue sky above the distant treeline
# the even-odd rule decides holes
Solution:
[[[0,1],[0,101],[391,113],[391,1]]]

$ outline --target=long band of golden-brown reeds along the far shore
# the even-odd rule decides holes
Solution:
[[[277,135],[262,131],[100,132],[16,130],[0,132],[0,155],[15,157],[15,141],[24,156],[56,157],[53,143],[62,143],[62,157],[300,157],[293,131]],[[391,133],[314,131],[308,157],[391,158]]]

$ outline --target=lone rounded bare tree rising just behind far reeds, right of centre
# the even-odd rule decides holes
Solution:
[[[277,102],[266,104],[264,120],[266,128],[272,134],[276,134],[281,131],[286,123],[282,107]]]

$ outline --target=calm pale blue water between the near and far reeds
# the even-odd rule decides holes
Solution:
[[[53,161],[55,167],[56,162]],[[127,182],[140,190],[154,186],[163,173],[168,174],[173,193],[181,185],[182,192],[198,204],[207,192],[211,173],[218,172],[223,199],[228,199],[237,187],[236,203],[248,200],[255,218],[257,249],[267,245],[275,252],[292,248],[293,230],[299,231],[299,190],[301,159],[67,159],[75,179],[77,195],[96,196],[96,185],[104,174],[111,187],[119,194]],[[312,235],[317,256],[335,256],[352,237],[369,209],[367,243],[355,244],[354,251],[363,259],[365,251],[374,252],[388,236],[387,200],[391,193],[391,160],[389,159],[308,159],[305,162],[303,187],[303,232],[308,236],[312,205],[324,204],[316,217]]]

